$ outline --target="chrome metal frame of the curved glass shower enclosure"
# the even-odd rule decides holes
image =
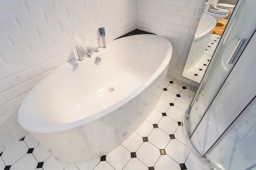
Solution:
[[[241,118],[245,115],[245,113],[247,113],[248,110],[250,110],[250,108],[252,108],[252,106],[256,103],[256,96],[254,96],[254,98],[249,102],[249,104],[243,109],[243,111],[241,111],[241,113],[239,113],[239,115],[236,117],[236,119],[233,120],[233,122],[227,127],[227,129],[221,134],[221,136],[219,136],[219,138],[214,142],[214,144],[212,144],[212,146],[206,151],[206,153],[204,153],[204,155],[202,155],[197,148],[195,147],[195,145],[193,144],[191,137],[194,134],[195,130],[197,129],[198,125],[200,124],[201,120],[204,118],[205,114],[207,113],[207,110],[209,109],[210,105],[212,104],[212,102],[214,101],[215,97],[217,96],[218,92],[220,91],[221,87],[224,85],[224,82],[227,80],[227,77],[229,77],[231,71],[233,70],[234,66],[236,65],[236,62],[238,61],[239,57],[241,56],[241,54],[243,53],[244,49],[246,48],[247,44],[250,42],[250,39],[252,38],[253,34],[256,32],[256,28],[254,28],[254,31],[252,32],[252,34],[250,35],[250,38],[248,39],[242,39],[240,46],[237,48],[236,51],[234,51],[234,55],[236,56],[233,59],[233,65],[231,66],[231,68],[227,71],[226,76],[224,77],[224,79],[220,82],[217,90],[215,91],[215,93],[213,94],[213,97],[211,98],[211,101],[209,102],[209,104],[207,105],[206,109],[204,110],[204,113],[202,114],[201,118],[198,120],[197,124],[195,125],[195,127],[193,128],[192,132],[189,133],[189,127],[188,127],[188,119],[189,119],[189,113],[191,111],[192,106],[195,103],[195,100],[197,99],[198,95],[200,94],[201,88],[204,85],[205,80],[207,79],[207,76],[212,68],[212,65],[214,64],[214,61],[216,59],[216,57],[218,56],[218,53],[220,52],[221,49],[221,45],[226,41],[227,39],[227,35],[230,32],[230,28],[233,26],[233,21],[236,18],[236,14],[238,14],[238,11],[241,7],[241,5],[243,4],[244,0],[238,0],[238,2],[236,3],[236,8],[233,10],[233,14],[231,15],[230,19],[228,20],[227,26],[224,29],[223,35],[221,37],[221,40],[219,41],[214,54],[212,55],[212,59],[209,62],[209,65],[207,67],[207,70],[205,71],[204,77],[201,80],[201,83],[195,93],[194,98],[192,99],[192,102],[190,103],[188,109],[186,110],[185,114],[183,115],[183,137],[186,139],[187,142],[187,146],[190,148],[190,150],[196,155],[198,156],[198,158],[200,159],[201,163],[211,169],[211,170],[218,170],[215,167],[213,167],[213,165],[211,164],[211,162],[209,160],[207,160],[207,156],[212,152],[212,150],[215,149],[215,147],[224,139],[225,136],[227,136],[227,134],[230,132],[230,130],[233,129],[233,127],[239,122],[239,120],[241,120]],[[256,167],[256,164],[248,167],[245,170],[251,170],[254,167]]]

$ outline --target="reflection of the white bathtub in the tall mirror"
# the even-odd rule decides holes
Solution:
[[[184,71],[192,68],[203,57],[216,23],[215,18],[208,14],[201,16]]]

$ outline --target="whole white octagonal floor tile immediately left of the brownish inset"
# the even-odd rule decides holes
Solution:
[[[160,156],[160,150],[149,142],[143,142],[136,152],[137,158],[148,167],[154,167]]]

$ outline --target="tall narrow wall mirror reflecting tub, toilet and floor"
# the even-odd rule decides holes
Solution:
[[[182,76],[201,82],[237,0],[207,0]]]

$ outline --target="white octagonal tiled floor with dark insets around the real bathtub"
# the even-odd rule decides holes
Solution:
[[[181,119],[194,94],[186,83],[167,78],[157,107],[143,125],[99,159],[60,164],[28,135],[0,153],[0,170],[205,170],[181,134]]]

